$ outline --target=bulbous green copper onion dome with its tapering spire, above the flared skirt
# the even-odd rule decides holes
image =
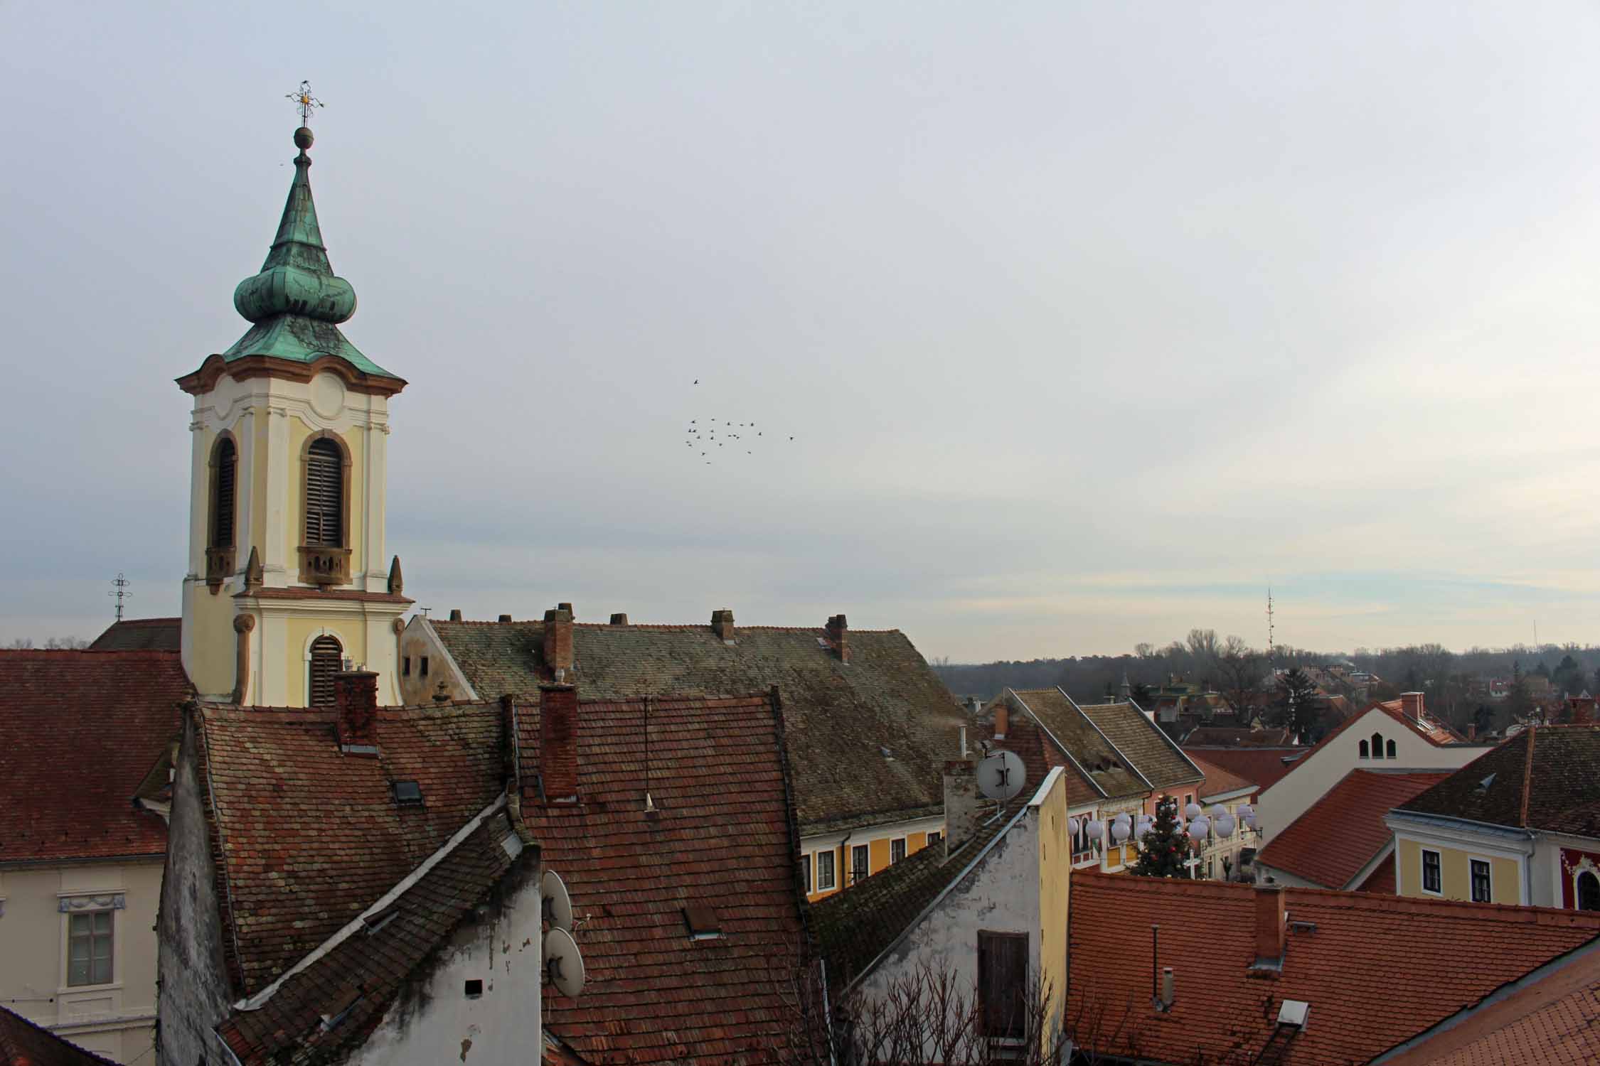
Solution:
[[[294,158],[294,181],[283,205],[283,221],[272,241],[261,273],[245,278],[234,289],[234,307],[253,323],[274,315],[304,315],[317,321],[349,321],[355,313],[355,289],[333,273],[328,249],[317,225],[317,203],[310,198],[310,129],[294,131],[301,153]]]

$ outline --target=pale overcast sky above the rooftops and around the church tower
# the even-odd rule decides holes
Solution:
[[[1600,638],[1594,3],[234,6],[0,3],[0,639],[176,614],[301,78],[419,606]]]

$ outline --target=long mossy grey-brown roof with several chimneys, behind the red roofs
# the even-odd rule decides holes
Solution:
[[[552,679],[542,622],[432,626],[480,697],[526,694]],[[776,684],[805,833],[938,813],[939,767],[955,758],[966,718],[904,633],[850,630],[848,666],[821,644],[821,626],[738,626],[734,638],[730,647],[709,625],[574,625],[568,681],[595,698]]]

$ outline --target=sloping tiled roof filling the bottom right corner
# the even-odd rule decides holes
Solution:
[[[1536,980],[1517,981],[1450,1026],[1427,1032],[1384,1066],[1501,1066],[1600,1063],[1600,945],[1558,959]]]

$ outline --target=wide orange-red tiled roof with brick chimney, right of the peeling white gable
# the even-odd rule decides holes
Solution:
[[[1310,1004],[1309,1021],[1277,1061],[1366,1063],[1600,933],[1597,913],[1285,889],[1282,972],[1253,972],[1256,895],[1218,881],[1074,871],[1069,1002],[1106,1012],[1083,1042],[1141,1061],[1248,1063],[1282,1002],[1296,999]],[[1157,924],[1157,962],[1176,983],[1165,1013],[1150,1002]]]

